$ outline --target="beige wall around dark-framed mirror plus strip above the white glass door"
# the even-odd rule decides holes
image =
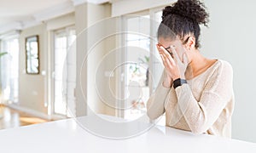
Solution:
[[[20,33],[20,77],[19,77],[19,105],[22,109],[32,110],[33,112],[48,114],[50,109],[48,105],[50,96],[52,96],[49,81],[52,78],[52,67],[50,66],[50,58],[53,48],[52,37],[50,31],[70,26],[74,24],[74,14],[66,14],[55,19],[45,21],[45,23],[38,26],[33,26],[24,29]],[[39,63],[40,74],[27,75],[26,74],[26,51],[25,40],[26,37],[38,35],[39,36]],[[42,72],[44,71],[44,75]]]

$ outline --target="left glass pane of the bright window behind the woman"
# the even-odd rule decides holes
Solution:
[[[125,34],[125,119],[136,119],[146,112],[149,98],[150,54],[149,15],[127,16]]]

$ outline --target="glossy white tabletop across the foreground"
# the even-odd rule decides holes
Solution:
[[[84,120],[87,120],[84,117]],[[130,139],[104,139],[74,119],[0,130],[0,152],[256,152],[256,144],[155,126]]]

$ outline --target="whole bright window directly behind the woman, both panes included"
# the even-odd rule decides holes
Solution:
[[[125,119],[136,119],[146,113],[148,98],[154,92],[164,68],[155,48],[162,12],[160,8],[147,12],[140,16],[123,16],[123,57],[126,64],[125,82],[121,87],[124,87]]]

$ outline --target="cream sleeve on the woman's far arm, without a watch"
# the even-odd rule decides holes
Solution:
[[[151,120],[157,119],[165,112],[166,95],[170,91],[170,88],[165,88],[162,84],[165,79],[165,75],[164,70],[154,94],[150,96],[147,102],[147,114]]]

